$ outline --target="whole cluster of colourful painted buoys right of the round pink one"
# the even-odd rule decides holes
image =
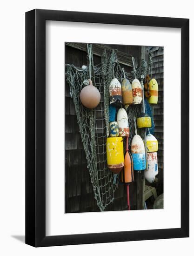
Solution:
[[[156,138],[148,134],[144,141],[137,134],[136,119],[134,118],[135,135],[131,141],[131,153],[128,150],[129,122],[126,110],[130,105],[142,104],[142,114],[137,118],[138,128],[150,128],[152,126],[151,117],[145,113],[144,89],[150,104],[156,104],[158,97],[157,81],[152,79],[145,86],[143,81],[145,75],[141,76],[141,82],[136,79],[134,58],[134,80],[132,84],[124,79],[120,84],[117,78],[113,78],[109,86],[110,107],[109,107],[109,137],[107,138],[107,165],[114,173],[114,183],[121,171],[121,182],[127,186],[127,205],[129,202],[129,184],[134,181],[134,171],[145,171],[145,178],[148,182],[153,182],[158,174],[157,150],[158,142]],[[114,68],[114,67],[113,67]],[[114,69],[113,69],[114,70]],[[114,74],[114,71],[113,71]],[[155,103],[156,102],[156,103]],[[123,107],[122,107],[123,106]],[[115,120],[116,119],[116,120]],[[123,152],[123,138],[126,137],[126,153]],[[145,144],[144,144],[145,143]]]

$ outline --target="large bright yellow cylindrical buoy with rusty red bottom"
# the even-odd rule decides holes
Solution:
[[[107,164],[114,173],[119,173],[122,170],[124,166],[122,137],[107,138]]]

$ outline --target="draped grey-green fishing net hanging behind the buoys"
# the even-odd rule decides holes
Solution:
[[[106,140],[109,135],[109,84],[113,77],[121,83],[123,72],[114,50],[110,54],[104,51],[101,56],[101,64],[96,66],[94,66],[93,61],[92,45],[87,44],[87,50],[88,66],[86,68],[78,68],[72,64],[67,64],[67,82],[70,86],[70,95],[74,101],[94,197],[100,211],[104,211],[114,201],[114,192],[120,181],[117,177],[114,182],[114,175],[107,168]],[[126,78],[132,82],[135,72],[136,78],[139,79],[141,69],[142,67],[139,67],[132,73],[126,73]],[[85,108],[80,101],[80,91],[87,84],[88,78],[92,79],[93,85],[101,94],[100,104],[94,109]],[[127,109],[130,128],[129,145],[135,134],[134,116],[137,117],[140,113],[141,106],[134,105]],[[144,131],[140,130],[138,133],[143,136]]]

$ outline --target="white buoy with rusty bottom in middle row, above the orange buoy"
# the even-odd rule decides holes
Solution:
[[[117,113],[117,122],[119,125],[119,136],[129,136],[128,116],[125,108],[120,108]]]

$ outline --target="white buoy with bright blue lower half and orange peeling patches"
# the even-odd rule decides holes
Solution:
[[[146,155],[143,140],[140,135],[134,135],[131,142],[131,153],[133,157],[134,170],[142,171],[146,169]]]

